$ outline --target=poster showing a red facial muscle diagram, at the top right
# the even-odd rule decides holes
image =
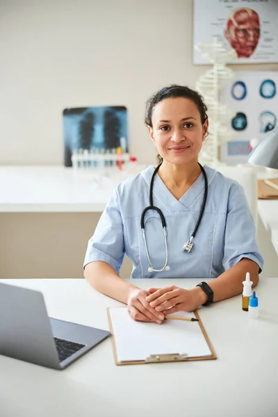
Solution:
[[[277,63],[277,22],[278,0],[194,0],[193,63],[209,63],[194,46],[213,38],[234,49],[229,63]]]

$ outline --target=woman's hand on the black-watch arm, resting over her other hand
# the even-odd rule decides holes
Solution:
[[[194,311],[206,302],[206,294],[199,287],[183,290],[173,285],[166,288],[149,288],[148,291],[152,294],[146,297],[146,301],[163,314]]]

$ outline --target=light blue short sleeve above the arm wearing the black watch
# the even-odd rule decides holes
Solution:
[[[224,235],[223,266],[228,270],[240,259],[249,258],[263,269],[263,258],[256,243],[256,227],[242,186],[231,188]]]

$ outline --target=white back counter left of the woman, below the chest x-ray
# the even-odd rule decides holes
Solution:
[[[0,212],[102,212],[117,183],[129,176],[112,167],[1,166]]]

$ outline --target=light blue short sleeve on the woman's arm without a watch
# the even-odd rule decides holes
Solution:
[[[104,261],[120,272],[124,259],[124,231],[117,190],[114,191],[88,242],[83,268],[93,261]]]

